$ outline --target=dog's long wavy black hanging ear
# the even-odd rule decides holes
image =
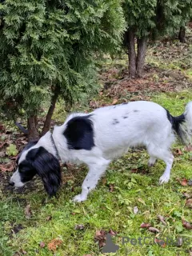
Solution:
[[[35,150],[37,152],[34,155],[33,166],[37,170],[37,174],[42,178],[47,194],[54,196],[62,181],[58,159],[42,146]]]

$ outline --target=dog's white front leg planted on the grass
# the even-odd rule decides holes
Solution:
[[[76,195],[74,197],[74,202],[82,202],[86,200],[87,195],[91,190],[94,190],[95,186],[98,184],[98,180],[105,174],[109,163],[110,161],[104,158],[99,159],[97,163],[89,163],[89,172],[82,183],[82,194]]]

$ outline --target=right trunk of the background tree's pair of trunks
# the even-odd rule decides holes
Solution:
[[[137,77],[142,78],[143,66],[146,55],[146,37],[138,39],[138,56],[137,56]]]

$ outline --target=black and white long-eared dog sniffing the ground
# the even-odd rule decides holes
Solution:
[[[185,113],[173,117],[154,102],[129,102],[106,106],[90,114],[70,114],[62,126],[55,126],[38,142],[26,146],[18,158],[18,169],[10,185],[23,186],[38,174],[46,192],[56,194],[61,182],[58,159],[62,162],[86,163],[89,172],[82,183],[82,193],[74,201],[82,202],[95,188],[113,158],[130,147],[146,146],[149,165],[156,159],[166,163],[159,183],[168,182],[174,156],[170,151],[176,134],[185,144],[192,141],[192,102]]]

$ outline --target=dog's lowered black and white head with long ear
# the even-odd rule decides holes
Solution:
[[[41,144],[29,143],[18,155],[18,167],[10,178],[10,185],[23,186],[38,174],[42,178],[47,194],[53,196],[61,183],[60,165],[58,158]]]

